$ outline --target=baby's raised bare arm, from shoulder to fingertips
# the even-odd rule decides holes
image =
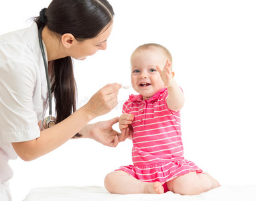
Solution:
[[[164,68],[160,68],[156,66],[157,71],[159,72],[164,84],[168,88],[168,98],[166,103],[170,110],[172,111],[179,111],[182,109],[184,105],[184,94],[178,86],[177,82],[174,80],[174,72],[172,72],[170,60],[166,61],[166,66]]]

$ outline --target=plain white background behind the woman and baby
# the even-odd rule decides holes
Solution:
[[[184,90],[184,153],[222,185],[255,185],[256,31],[254,1],[109,0],[115,22],[108,48],[74,61],[78,107],[107,83],[129,84],[129,57],[155,42],[173,56]],[[50,0],[5,1],[0,34],[27,27]],[[119,105],[94,119],[121,115],[132,89],[119,91]],[[72,125],[70,125],[72,126]],[[118,129],[117,125],[115,129]],[[70,140],[35,161],[10,161],[13,200],[42,186],[103,186],[108,172],[131,164],[131,141],[117,148],[91,139]]]

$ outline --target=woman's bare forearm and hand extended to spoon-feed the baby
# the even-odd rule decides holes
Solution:
[[[60,147],[81,131],[89,121],[109,113],[117,105],[119,88],[121,88],[121,84],[107,84],[70,117],[54,127],[41,131],[40,137],[37,139],[12,143],[17,155],[24,161],[31,161]],[[84,137],[89,137],[89,135],[86,133]]]

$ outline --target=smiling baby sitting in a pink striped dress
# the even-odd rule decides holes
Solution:
[[[139,94],[123,105],[119,128],[133,141],[133,165],[109,173],[105,188],[116,194],[195,195],[220,186],[184,158],[184,94],[174,80],[170,52],[159,44],[139,46],[131,55],[131,84]]]

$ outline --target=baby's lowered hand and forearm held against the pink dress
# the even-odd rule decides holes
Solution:
[[[121,133],[129,133],[129,139],[132,138],[133,128],[131,127],[131,123],[133,122],[133,115],[128,113],[123,113],[119,118],[119,129]]]

